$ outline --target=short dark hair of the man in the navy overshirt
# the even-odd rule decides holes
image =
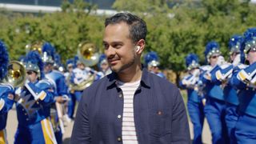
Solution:
[[[105,27],[110,24],[126,22],[130,30],[130,38],[133,42],[138,42],[140,39],[146,40],[146,22],[142,18],[130,13],[118,13],[110,18],[106,18]]]

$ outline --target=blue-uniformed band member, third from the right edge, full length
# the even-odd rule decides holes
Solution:
[[[222,57],[217,42],[208,42],[205,51],[206,61],[210,66],[205,66],[205,72],[201,74],[202,83],[206,90],[206,106],[204,112],[209,123],[212,142],[225,143],[228,140],[225,124],[225,101],[221,86],[212,82],[211,76],[218,70],[218,65],[222,64]]]

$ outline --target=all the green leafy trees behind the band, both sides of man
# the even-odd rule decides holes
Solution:
[[[54,44],[62,62],[74,57],[82,41],[94,42],[102,52],[106,15],[96,15],[97,6],[83,0],[64,0],[61,7],[62,11],[52,14],[0,10],[0,38],[6,42],[11,59],[26,54],[26,44],[36,40]],[[206,43],[214,40],[227,57],[229,38],[256,23],[256,6],[249,0],[116,0],[113,7],[146,21],[146,51],[156,51],[162,68],[171,69],[178,76],[185,70],[186,54],[198,54],[203,64]]]

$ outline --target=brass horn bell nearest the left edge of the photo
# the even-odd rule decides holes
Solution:
[[[26,69],[21,62],[11,61],[8,65],[7,70],[7,75],[3,79],[4,83],[8,83],[14,87],[24,85],[24,83],[26,82]]]

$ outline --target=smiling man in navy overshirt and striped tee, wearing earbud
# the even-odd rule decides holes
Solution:
[[[178,88],[142,67],[146,32],[133,14],[106,18],[103,44],[113,73],[84,90],[71,143],[190,143]]]

